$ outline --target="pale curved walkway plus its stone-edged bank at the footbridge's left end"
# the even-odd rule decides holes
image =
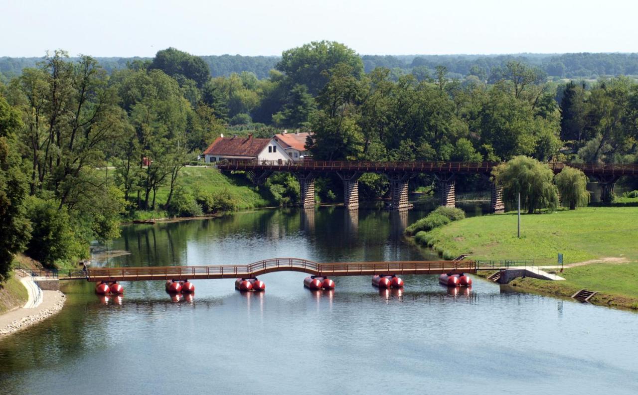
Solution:
[[[62,292],[42,291],[31,276],[22,271],[17,271],[16,274],[29,292],[29,299],[21,308],[0,315],[0,337],[47,319],[64,306],[66,297]]]

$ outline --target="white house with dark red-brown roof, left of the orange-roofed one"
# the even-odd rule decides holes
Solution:
[[[278,141],[272,138],[246,136],[218,137],[204,151],[207,163],[223,159],[259,159],[260,161],[292,161],[292,158]]]

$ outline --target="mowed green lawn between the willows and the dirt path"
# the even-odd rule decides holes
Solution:
[[[534,259],[565,264],[603,257],[638,262],[638,207],[587,207],[554,213],[516,213],[472,217],[434,229],[430,236],[440,250],[469,253],[471,259]]]

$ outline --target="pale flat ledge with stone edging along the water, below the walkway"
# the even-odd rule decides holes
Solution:
[[[0,315],[0,337],[15,333],[59,312],[66,297],[60,291],[42,291],[43,301],[36,308],[19,308]]]

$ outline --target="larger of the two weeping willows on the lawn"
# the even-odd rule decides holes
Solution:
[[[521,205],[531,214],[541,208],[558,206],[553,171],[536,159],[523,155],[496,166],[492,172],[496,185],[503,188],[503,199],[514,202],[521,194]]]

